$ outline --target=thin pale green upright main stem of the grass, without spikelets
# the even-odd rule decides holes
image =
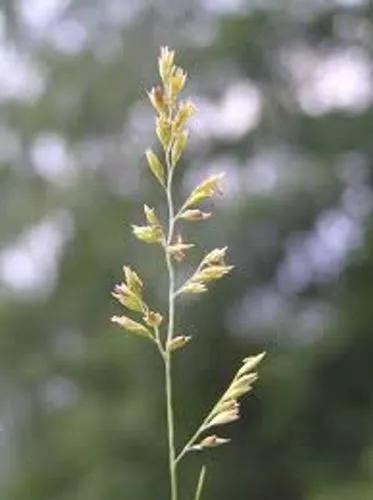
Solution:
[[[177,488],[177,472],[175,464],[175,424],[174,424],[174,411],[173,411],[173,399],[172,399],[172,372],[171,372],[171,354],[167,351],[167,343],[170,342],[174,335],[174,325],[175,325],[175,270],[173,267],[171,255],[169,254],[167,247],[171,244],[174,237],[174,206],[172,200],[172,177],[173,169],[170,161],[170,149],[166,151],[166,164],[168,168],[168,181],[167,181],[167,205],[168,205],[168,235],[165,248],[166,254],[166,264],[168,270],[168,280],[169,280],[169,294],[168,294],[168,329],[167,329],[167,342],[166,342],[166,352],[164,356],[164,366],[165,366],[165,383],[166,383],[166,404],[167,404],[167,431],[168,431],[168,451],[169,451],[169,473],[170,473],[170,488],[171,488],[171,500],[177,500],[178,488]]]

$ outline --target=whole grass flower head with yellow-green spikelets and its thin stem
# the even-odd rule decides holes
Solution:
[[[177,467],[176,464],[191,450],[216,448],[229,442],[229,439],[216,434],[204,435],[205,431],[213,426],[221,426],[234,422],[239,418],[239,399],[247,394],[258,378],[256,368],[264,357],[264,353],[251,356],[243,360],[242,366],[228,385],[220,399],[214,405],[201,426],[193,434],[184,448],[175,456],[175,442],[172,428],[172,378],[171,353],[182,349],[190,341],[184,335],[175,336],[175,299],[180,294],[201,294],[207,291],[207,285],[228,274],[233,266],[226,263],[227,247],[215,248],[205,255],[194,274],[176,290],[174,259],[181,261],[187,251],[194,245],[183,241],[177,236],[177,223],[180,220],[202,221],[211,217],[210,212],[198,208],[198,204],[221,192],[220,182],[223,174],[211,175],[203,180],[179,210],[173,204],[173,174],[180,161],[188,142],[186,129],[188,120],[196,112],[196,107],[190,100],[179,100],[179,94],[185,87],[187,73],[174,64],[175,52],[168,47],[162,47],[158,59],[161,82],[154,86],[148,97],[155,110],[155,132],[162,145],[162,158],[151,149],[145,152],[148,166],[163,186],[167,197],[168,220],[163,230],[154,208],[144,205],[145,224],[133,225],[134,235],[141,241],[149,244],[160,244],[165,254],[168,271],[168,325],[163,331],[163,315],[150,309],[143,299],[143,282],[140,277],[128,266],[123,267],[124,281],[114,287],[112,295],[127,309],[134,311],[141,318],[135,321],[127,316],[113,316],[111,321],[124,330],[138,336],[151,339],[159,350],[165,365],[165,392],[167,400],[167,426],[169,436],[169,465],[171,496],[177,496]],[[176,214],[176,215],[174,215]],[[202,494],[205,468],[202,467],[198,480],[195,499],[199,500]]]

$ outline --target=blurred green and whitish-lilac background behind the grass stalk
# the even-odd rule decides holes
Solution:
[[[183,301],[178,442],[243,356],[261,379],[206,454],[205,500],[373,498],[373,4],[364,0],[0,1],[0,498],[167,498],[162,367],[109,323],[122,264],[164,306],[130,234],[161,191],[145,90],[160,45],[199,114],[181,201],[226,172],[232,275]],[[186,460],[191,498],[201,457]]]

